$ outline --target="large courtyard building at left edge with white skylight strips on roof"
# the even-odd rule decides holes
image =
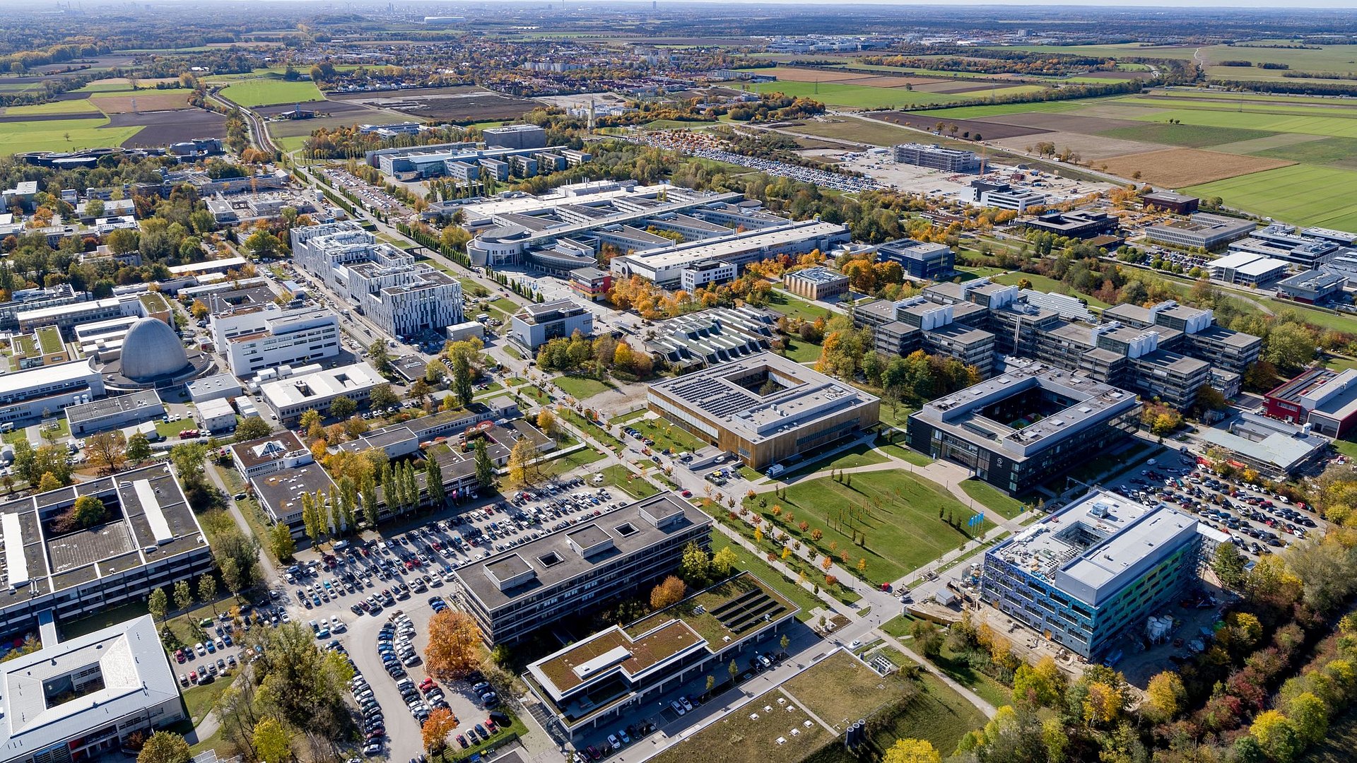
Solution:
[[[80,496],[103,501],[106,521],[87,529],[61,529],[57,519]],[[58,619],[80,619],[128,601],[144,601],[156,588],[214,567],[208,539],[168,464],[5,501],[0,504],[0,532],[4,635],[35,629],[43,611]],[[12,721],[12,715],[8,718]]]

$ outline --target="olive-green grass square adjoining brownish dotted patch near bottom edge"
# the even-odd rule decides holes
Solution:
[[[909,691],[909,682],[896,673],[881,677],[852,654],[837,652],[782,684],[783,691],[826,724],[856,721]]]

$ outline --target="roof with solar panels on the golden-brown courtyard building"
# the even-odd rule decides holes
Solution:
[[[878,399],[773,353],[759,353],[651,386],[651,394],[764,441]],[[672,403],[669,403],[672,405]]]

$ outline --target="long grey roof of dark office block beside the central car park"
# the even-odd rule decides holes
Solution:
[[[546,588],[589,574],[601,563],[643,551],[669,535],[693,525],[710,524],[711,517],[673,493],[660,493],[596,517],[590,524],[607,534],[612,547],[585,557],[571,544],[570,525],[457,569],[463,591],[475,596],[487,611],[512,604]],[[501,588],[501,581],[522,578]]]

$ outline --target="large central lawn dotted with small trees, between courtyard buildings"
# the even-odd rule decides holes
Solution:
[[[939,510],[950,512],[955,521],[965,521],[970,513],[940,485],[906,471],[870,471],[844,479],[851,485],[828,477],[798,482],[784,490],[783,498],[765,498],[765,508],[757,500],[746,501],[745,506],[771,520],[773,505],[780,505],[779,528],[790,531],[802,544],[835,557],[837,551],[829,547],[836,543],[837,550],[848,551],[849,567],[856,566],[858,558],[867,559],[866,576],[871,581],[896,580],[969,539],[938,519]],[[809,521],[807,532],[788,528],[787,512],[798,524]],[[810,538],[817,528],[824,532],[820,542]],[[867,535],[866,547],[854,543],[856,532]]]

